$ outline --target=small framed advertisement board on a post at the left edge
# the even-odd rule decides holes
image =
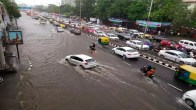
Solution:
[[[22,31],[9,31],[8,36],[11,45],[23,44]]]

